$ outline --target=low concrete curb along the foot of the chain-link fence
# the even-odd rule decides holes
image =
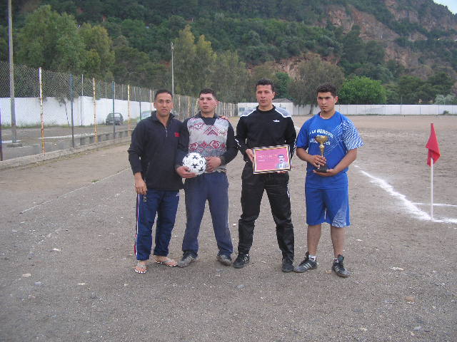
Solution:
[[[121,145],[126,142],[130,142],[131,137],[118,138],[116,140],[106,140],[96,142],[90,145],[81,145],[76,147],[66,148],[65,150],[52,151],[48,153],[40,153],[38,155],[25,155],[24,157],[17,157],[9,160],[3,160],[0,162],[0,170],[11,169],[13,167],[19,167],[36,162],[44,162],[45,160],[57,159],[66,155],[74,155],[75,153],[96,150],[101,147]]]

